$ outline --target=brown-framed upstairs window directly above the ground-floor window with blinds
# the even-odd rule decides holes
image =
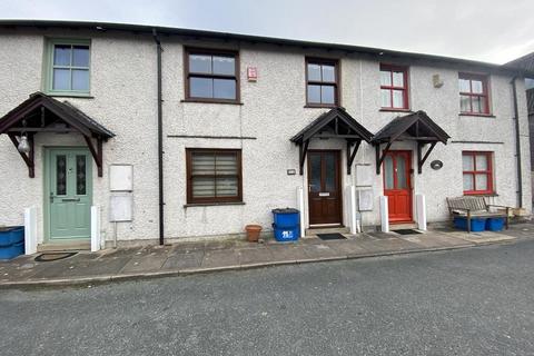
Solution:
[[[239,100],[237,52],[187,49],[186,77],[187,99],[212,102]]]

